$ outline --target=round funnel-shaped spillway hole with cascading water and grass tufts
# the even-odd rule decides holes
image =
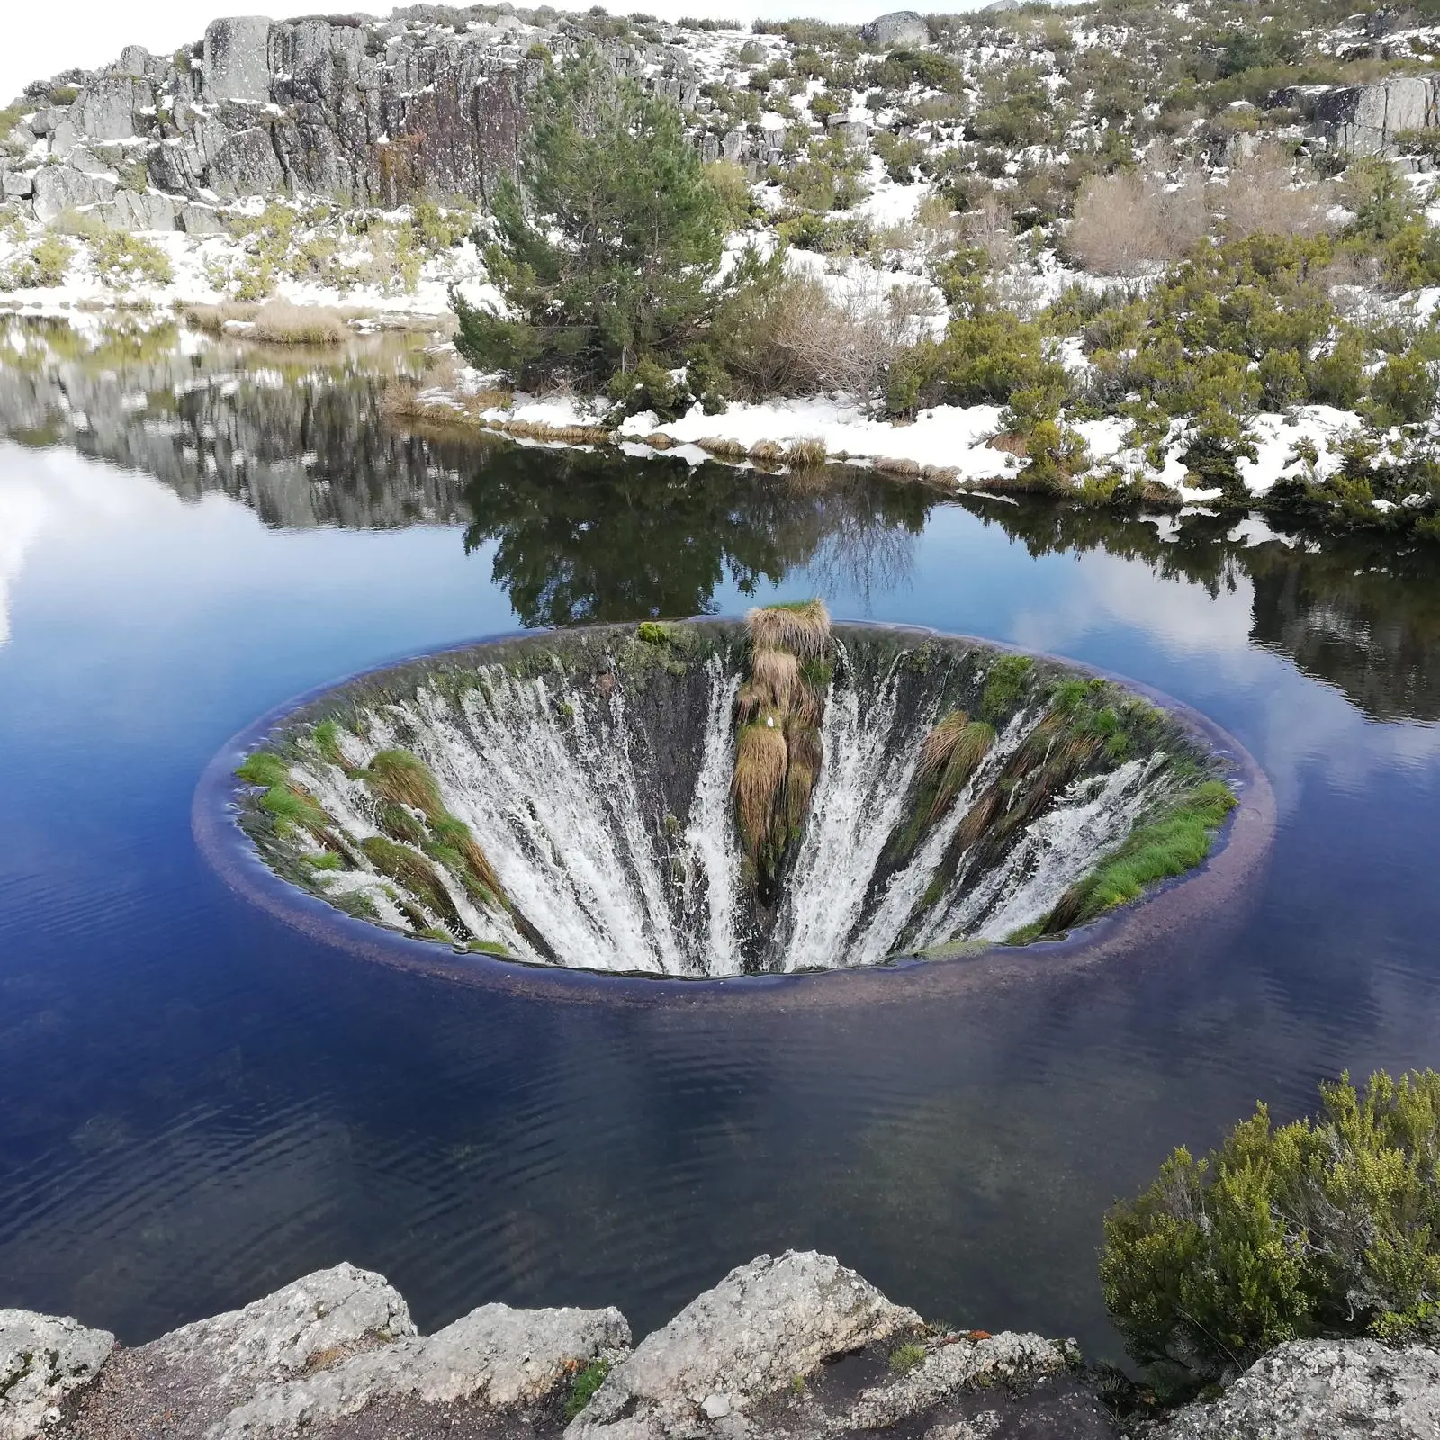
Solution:
[[[1064,936],[1184,886],[1267,799],[1153,691],[809,602],[359,675],[217,757],[196,832],[307,929],[696,979]]]

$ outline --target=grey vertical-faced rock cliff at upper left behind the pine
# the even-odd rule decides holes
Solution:
[[[130,46],[109,69],[26,91],[0,137],[0,193],[29,200],[40,220],[96,206],[122,228],[194,233],[245,196],[484,202],[516,168],[541,58],[585,40],[616,71],[697,105],[683,48],[596,37],[549,14],[550,24],[508,7],[413,6],[383,22],[238,16],[173,56]]]

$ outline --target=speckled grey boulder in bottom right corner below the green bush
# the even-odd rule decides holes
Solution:
[[[1156,1440],[1440,1440],[1440,1354],[1378,1341],[1290,1341]]]

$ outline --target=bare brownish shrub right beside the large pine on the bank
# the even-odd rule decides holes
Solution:
[[[788,274],[736,297],[724,360],[743,399],[832,390],[868,399],[933,314],[923,285],[886,287],[876,276],[837,295],[815,275]]]

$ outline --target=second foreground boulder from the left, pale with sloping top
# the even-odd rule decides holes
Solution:
[[[382,1274],[338,1264],[242,1310],[184,1325],[121,1351],[75,1423],[85,1440],[200,1440],[262,1385],[415,1333],[409,1306]]]

